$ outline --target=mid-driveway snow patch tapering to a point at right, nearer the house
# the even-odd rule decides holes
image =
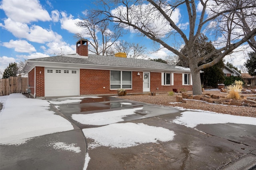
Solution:
[[[141,110],[141,109],[143,109],[143,107],[134,108],[134,109],[105,111],[105,112],[91,113],[91,114],[73,114],[72,119],[84,125],[108,125],[111,123],[124,121],[122,117],[136,114],[134,113],[134,111]]]

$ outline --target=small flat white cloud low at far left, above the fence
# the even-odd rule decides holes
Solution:
[[[14,41],[11,39],[9,42],[4,42],[3,46],[7,48],[14,48],[14,51],[20,53],[30,53],[36,51],[35,47],[25,40]]]

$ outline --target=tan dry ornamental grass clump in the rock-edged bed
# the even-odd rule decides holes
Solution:
[[[240,99],[240,93],[242,91],[242,88],[243,88],[243,82],[242,81],[235,81],[234,84],[231,84],[229,86],[226,87],[226,90],[228,92],[228,96],[227,98],[230,98],[230,99]]]

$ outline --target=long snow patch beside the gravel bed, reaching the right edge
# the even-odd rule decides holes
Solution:
[[[199,124],[236,123],[256,125],[256,117],[236,116],[220,113],[185,111],[172,122],[186,127],[196,127]]]

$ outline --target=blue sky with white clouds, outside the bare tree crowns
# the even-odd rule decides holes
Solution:
[[[76,53],[74,34],[81,29],[74,23],[80,21],[83,12],[94,8],[94,0],[1,0],[0,1],[0,72],[9,63],[32,58],[49,57],[60,53]],[[177,20],[186,23],[177,12]],[[186,25],[186,24],[185,24]],[[186,27],[184,27],[186,29]],[[87,38],[87,37],[84,37]],[[154,45],[146,37],[128,32],[120,38],[145,45],[148,51]],[[150,58],[163,58],[170,55],[166,49],[150,54]],[[238,54],[243,55],[243,53]],[[237,55],[237,56],[238,56]],[[238,57],[239,58],[239,57]],[[226,60],[227,61],[227,60]],[[230,61],[235,66],[244,60]]]

